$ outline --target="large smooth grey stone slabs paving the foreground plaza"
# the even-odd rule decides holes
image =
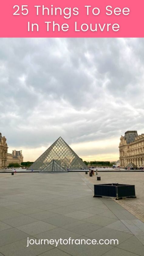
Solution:
[[[143,256],[144,224],[114,200],[93,198],[93,187],[81,173],[0,174],[0,256]],[[119,243],[26,247],[27,237]]]

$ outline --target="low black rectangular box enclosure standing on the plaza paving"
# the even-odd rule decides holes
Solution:
[[[126,185],[118,183],[94,185],[94,197],[115,197],[117,200],[122,197],[134,197],[135,185]]]

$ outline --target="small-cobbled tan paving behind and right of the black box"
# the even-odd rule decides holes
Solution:
[[[89,177],[85,172],[82,174],[93,184],[118,182],[135,185],[137,198],[125,198],[116,202],[144,222],[144,172],[98,172],[101,181],[97,181],[96,175]]]

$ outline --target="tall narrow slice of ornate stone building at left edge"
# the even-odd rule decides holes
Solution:
[[[2,137],[0,133],[0,169],[5,169],[7,167],[7,152],[8,145],[6,143],[5,136]]]

